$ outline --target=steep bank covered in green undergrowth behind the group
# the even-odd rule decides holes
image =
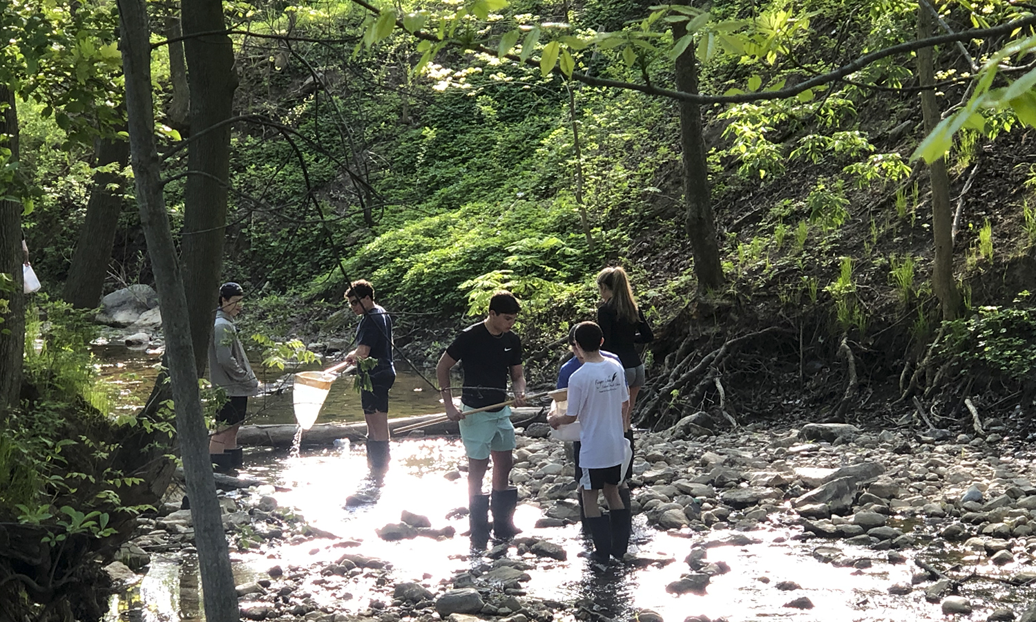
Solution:
[[[249,21],[255,35],[236,39],[237,108],[249,116],[233,139],[224,274],[262,292],[252,305],[263,324],[257,332],[345,332],[348,316],[334,312],[346,281],[367,277],[400,314],[404,347],[432,358],[469,319],[465,311],[508,286],[527,303],[520,329],[536,355],[534,377],[546,381],[564,351],[548,344],[592,316],[593,274],[618,262],[662,327],[649,354],[644,424],[716,408],[720,387],[735,418],[794,414],[793,404],[833,417],[859,416],[863,405],[898,418],[916,409],[913,394],[925,411],[938,399],[943,413],[959,416],[968,414],[962,397],[940,397],[932,386],[969,387],[976,397],[1023,390],[1020,376],[996,372],[996,365],[975,368],[970,386],[967,373],[957,381],[957,370],[945,366],[977,347],[971,343],[981,321],[941,331],[929,285],[930,186],[926,170],[909,162],[923,131],[906,57],[797,97],[704,109],[726,281],[699,292],[684,233],[673,102],[567,85],[481,54],[447,51],[414,74],[418,43],[397,30],[377,47],[363,46],[365,17],[350,7],[234,17]],[[917,18],[914,5],[876,1],[817,0],[802,9],[808,26],[780,2],[714,3],[718,18],[769,24],[781,45],[774,58],[755,59],[746,48],[704,60],[702,92],[801,82],[909,38]],[[516,2],[506,10],[580,31],[622,28],[650,7]],[[956,29],[970,20],[958,7],[944,18]],[[298,40],[262,36],[286,24]],[[472,36],[491,37],[493,28]],[[321,37],[334,40],[313,40]],[[971,54],[980,62],[998,45],[983,41]],[[972,70],[957,48],[940,52],[941,80]],[[630,66],[610,49],[587,51],[580,61],[608,79],[673,80],[669,63]],[[940,88],[944,110],[969,92],[963,83]],[[951,196],[960,207],[954,274],[968,316],[1000,306],[996,313],[1024,329],[1036,217],[1025,156],[1031,137],[1005,132],[1012,124],[1006,113],[991,114],[991,138],[966,130],[949,156]],[[171,167],[175,210],[182,163]],[[134,239],[136,225],[125,227],[122,237]],[[30,229],[30,243],[33,235]],[[762,334],[717,351],[753,333]],[[929,352],[940,335],[942,345]],[[714,351],[715,364],[696,370]],[[1009,351],[1030,356],[1027,347]],[[999,401],[986,399],[983,416]]]

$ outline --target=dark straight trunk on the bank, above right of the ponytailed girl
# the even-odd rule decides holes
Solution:
[[[687,5],[687,0],[680,4]],[[672,25],[672,37],[679,40],[687,34],[687,23]],[[677,90],[698,92],[698,66],[695,46],[688,46],[677,58]],[[699,291],[716,289],[723,283],[723,267],[719,260],[716,223],[713,219],[712,196],[709,189],[709,166],[706,162],[706,141],[701,128],[701,107],[690,102],[680,103],[680,146],[684,160],[684,200],[687,201],[687,237],[694,256],[694,274]]]

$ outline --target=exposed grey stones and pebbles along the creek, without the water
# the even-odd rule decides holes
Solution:
[[[926,552],[960,550],[973,569],[991,581],[1009,586],[1036,583],[1036,486],[1032,483],[1036,474],[1031,460],[1011,453],[1014,448],[1004,442],[1002,434],[1007,430],[1001,422],[987,422],[984,436],[938,429],[863,431],[846,424],[778,430],[754,424],[712,435],[702,423],[700,418],[689,417],[669,430],[637,433],[630,482],[632,510],[654,529],[686,536],[687,548],[672,558],[658,559],[638,557],[633,547],[623,561],[631,568],[684,565],[681,578],[666,591],[687,599],[687,611],[694,609],[692,599],[708,591],[713,577],[729,571],[729,565],[719,559],[722,554],[716,553],[718,544],[750,545],[758,541],[753,532],[780,528],[793,534],[794,543],[835,567],[913,564],[910,584],[888,585],[888,594],[903,603],[923,595],[945,616],[980,612],[990,621],[1036,622],[1036,606],[1014,611],[968,596],[967,590],[958,588],[969,571],[952,572],[924,561]],[[519,435],[512,472],[520,502],[539,506],[542,518],[537,527],[578,520],[565,444],[547,437],[545,424],[531,424],[524,432]],[[453,471],[447,476],[462,474]],[[290,508],[279,507],[272,486],[231,480],[225,478],[222,486],[242,487],[221,492],[220,501],[232,552],[255,549],[262,542],[301,543],[333,537],[306,525]],[[157,516],[139,519],[134,540],[122,547],[119,561],[108,567],[116,583],[139,581],[137,572],[146,569],[149,554],[193,550],[190,511],[180,510],[175,502],[171,499]],[[713,532],[718,531],[735,535],[717,542]],[[432,530],[427,518],[408,513],[378,532],[386,540],[462,537],[452,527]],[[469,570],[442,585],[397,581],[392,564],[364,556],[361,542],[339,539],[333,545],[348,553],[319,567],[275,565],[268,578],[238,586],[242,618],[307,622],[605,619],[587,609],[592,603],[526,595],[522,584],[530,573],[544,564],[566,561],[566,550],[549,537],[519,536],[491,547],[481,562],[472,558]],[[843,545],[864,546],[872,553],[867,558],[853,557],[843,552]],[[710,554],[717,559],[710,559]],[[352,613],[321,606],[300,589],[314,574],[321,575],[311,582],[317,586],[341,589],[354,582],[357,590],[365,590],[354,597],[369,599],[370,606],[358,613],[355,606],[350,607]],[[758,581],[769,583],[768,577]],[[785,607],[813,607],[808,597],[796,597],[799,585],[795,582],[775,582],[773,589],[787,592]],[[662,620],[650,610],[636,614],[641,622]],[[724,619],[710,621],[692,615],[680,620]]]

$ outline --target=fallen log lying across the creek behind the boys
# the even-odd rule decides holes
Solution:
[[[511,408],[511,421],[518,424],[526,424],[538,419],[546,413],[543,406],[522,406]],[[437,415],[421,415],[419,417],[401,417],[388,420],[388,429],[394,431],[402,427],[420,424],[426,421],[441,419],[443,413]],[[477,415],[476,415],[477,417]],[[295,439],[298,426],[294,424],[271,424],[271,425],[246,425],[237,432],[237,444],[246,447],[291,447]],[[442,434],[457,434],[459,429],[456,422],[443,421],[432,423],[428,427],[414,430],[404,435],[426,435],[437,436]],[[309,430],[303,432],[303,445],[330,445],[336,439],[349,439],[352,441],[363,440],[367,435],[367,424],[357,423],[318,423]]]

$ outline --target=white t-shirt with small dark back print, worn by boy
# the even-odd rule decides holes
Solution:
[[[569,415],[582,431],[579,466],[622,464],[630,444],[623,435],[623,402],[630,399],[623,366],[611,359],[583,363],[569,378]]]

